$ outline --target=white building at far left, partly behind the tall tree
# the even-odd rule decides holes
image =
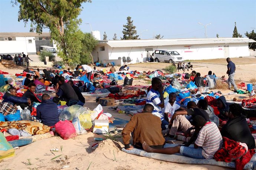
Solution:
[[[33,55],[39,52],[41,45],[55,47],[51,42],[50,33],[0,33],[0,54]]]

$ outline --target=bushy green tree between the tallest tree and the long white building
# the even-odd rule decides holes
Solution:
[[[84,33],[83,39],[82,39],[82,51],[80,54],[80,64],[91,64],[93,63],[92,54],[91,52],[95,48],[95,46],[98,44],[98,40],[96,40],[92,34],[90,33]]]

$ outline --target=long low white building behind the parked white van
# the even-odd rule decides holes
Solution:
[[[156,49],[177,51],[184,60],[213,59],[249,56],[249,38],[204,38],[204,39],[153,39],[153,40],[109,40],[99,41],[92,52],[93,60],[122,65],[119,57],[130,57],[130,63],[145,62],[147,51]]]

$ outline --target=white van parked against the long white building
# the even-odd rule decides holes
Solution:
[[[183,57],[177,51],[157,49],[153,54],[154,54],[153,59],[155,62],[159,62],[159,61],[164,61],[169,63],[183,62]]]

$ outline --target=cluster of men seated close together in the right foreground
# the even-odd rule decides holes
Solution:
[[[213,159],[223,146],[223,137],[245,143],[248,149],[255,148],[255,140],[246,121],[246,117],[255,113],[246,113],[237,103],[227,103],[224,96],[217,99],[219,117],[204,99],[197,104],[190,101],[184,108],[176,103],[175,93],[170,93],[169,101],[164,102],[160,78],[153,78],[151,84],[143,113],[134,115],[122,130],[125,149],[136,147],[146,152],[180,153],[195,159]],[[175,139],[177,131],[189,136],[190,140],[183,145],[164,148],[165,143]],[[129,145],[131,133],[132,146]]]

